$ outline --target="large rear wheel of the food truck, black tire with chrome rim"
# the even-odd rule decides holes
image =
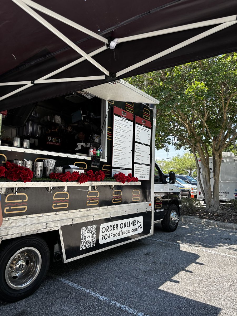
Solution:
[[[37,235],[0,245],[0,299],[15,302],[31,295],[43,282],[49,263],[48,245]]]

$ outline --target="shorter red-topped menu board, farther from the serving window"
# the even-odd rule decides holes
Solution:
[[[136,116],[135,122],[134,177],[149,180],[151,122],[139,116]]]

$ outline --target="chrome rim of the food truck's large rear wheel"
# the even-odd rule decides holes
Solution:
[[[21,248],[10,258],[5,269],[5,280],[12,289],[27,288],[38,276],[42,259],[33,247]]]

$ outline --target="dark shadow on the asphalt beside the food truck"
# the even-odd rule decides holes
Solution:
[[[155,232],[159,230],[159,227],[155,228]],[[205,234],[208,232],[207,229]],[[194,244],[202,238],[201,235],[196,236],[197,233],[202,234],[195,229],[189,235]],[[176,232],[166,234],[167,240],[173,242],[178,242],[178,237]],[[164,239],[164,236],[160,236],[160,239]],[[64,311],[62,307],[65,304],[70,307],[70,314],[97,316],[96,306],[99,304],[107,310],[115,310],[110,315],[130,315],[110,305],[109,301],[99,302],[88,293],[61,283],[57,280],[57,277],[61,277],[109,300],[132,307],[141,313],[136,316],[142,313],[149,316],[217,316],[221,308],[186,298],[188,295],[184,293],[172,293],[173,286],[179,286],[180,281],[175,279],[179,272],[185,271],[191,276],[193,271],[189,270],[188,266],[193,263],[197,264],[200,270],[203,269],[204,264],[198,262],[198,259],[199,255],[180,250],[179,246],[169,251],[167,244],[160,243],[156,247],[151,239],[144,238],[67,264],[56,262],[51,264],[49,271],[56,278],[48,275],[41,287],[25,300],[13,304],[0,303],[1,315],[26,315],[19,311],[23,311],[27,305],[27,314],[32,316],[39,315],[36,312],[39,309],[42,315],[53,315],[58,310],[60,316],[66,316],[69,315],[68,311]],[[164,283],[168,283],[170,291],[159,289]],[[94,306],[94,310],[91,306]],[[109,314],[104,312],[103,315]]]

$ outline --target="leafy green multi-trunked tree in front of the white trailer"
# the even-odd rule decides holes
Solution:
[[[222,151],[237,136],[237,53],[158,70],[126,79],[161,100],[156,106],[156,148],[174,143],[191,149],[203,168],[204,194],[210,211],[220,211],[219,175]],[[213,192],[209,150],[213,157]]]

